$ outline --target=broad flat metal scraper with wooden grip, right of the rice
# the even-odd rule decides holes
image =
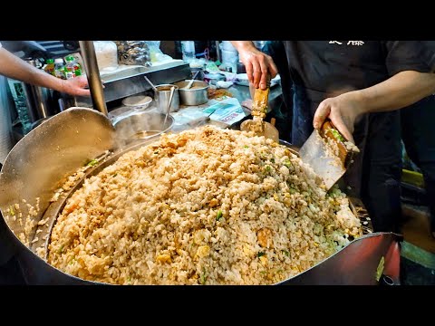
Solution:
[[[299,155],[302,161],[322,177],[326,190],[343,177],[353,158],[353,151],[344,144],[343,135],[333,127],[331,120],[325,120],[322,128],[314,129],[304,142]]]

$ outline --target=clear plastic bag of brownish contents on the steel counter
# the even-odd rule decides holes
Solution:
[[[127,65],[150,67],[150,48],[145,41],[115,41],[118,47],[118,61]]]

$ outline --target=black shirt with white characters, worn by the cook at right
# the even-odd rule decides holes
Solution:
[[[338,95],[383,82],[397,72],[433,72],[435,55],[422,41],[284,41],[298,86]]]

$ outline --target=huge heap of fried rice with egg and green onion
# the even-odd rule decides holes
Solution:
[[[285,146],[206,126],[162,135],[84,181],[53,226],[48,263],[114,284],[271,284],[362,235]]]

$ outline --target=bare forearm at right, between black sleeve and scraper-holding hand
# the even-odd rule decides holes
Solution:
[[[361,113],[398,110],[435,93],[435,73],[398,72],[355,93],[362,101]]]

